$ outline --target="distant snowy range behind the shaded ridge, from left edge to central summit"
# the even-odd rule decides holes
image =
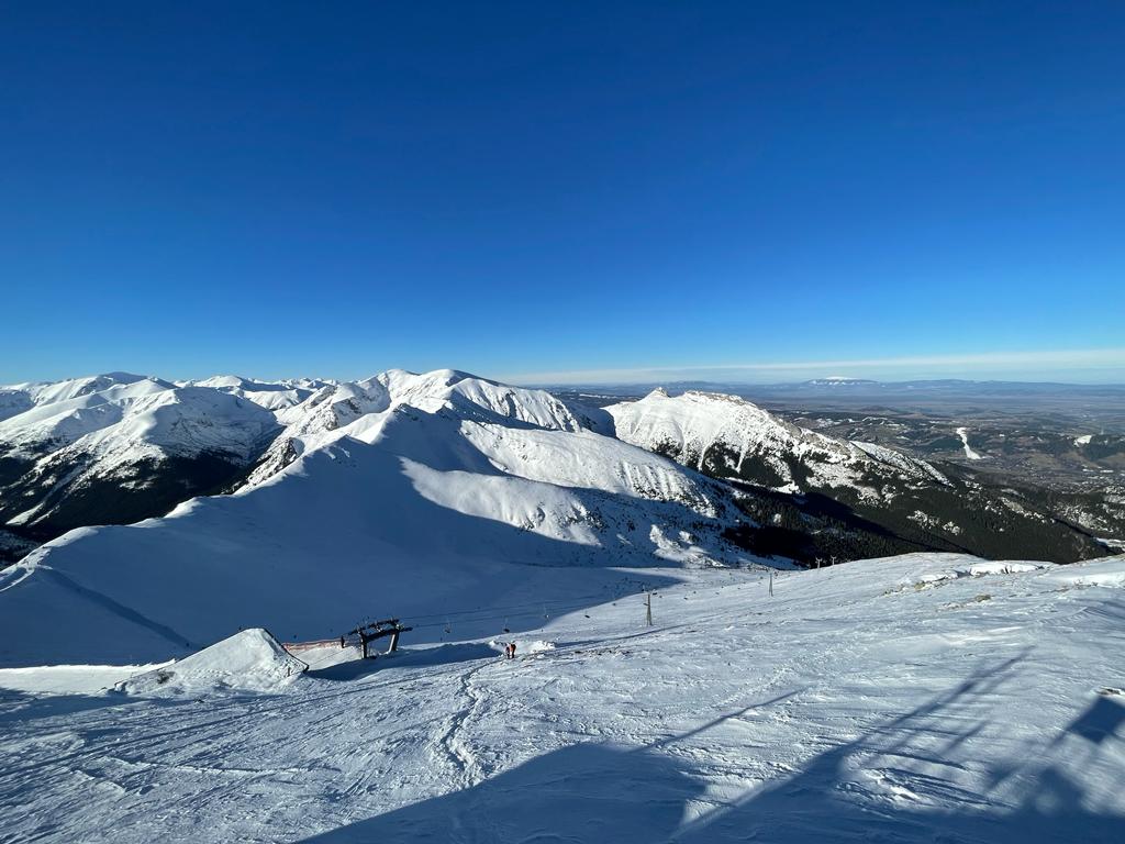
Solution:
[[[0,389],[0,562],[76,527],[130,523],[270,478],[399,408],[578,433],[590,419],[542,390],[438,370],[359,381],[111,372]],[[591,411],[593,414],[594,412]],[[552,468],[542,469],[554,481]]]

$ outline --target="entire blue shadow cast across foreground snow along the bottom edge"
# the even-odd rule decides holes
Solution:
[[[722,801],[683,756],[665,752],[738,713],[640,749],[580,744],[539,756],[471,788],[332,829],[307,842],[947,842],[1036,844],[1125,841],[1125,817],[1087,806],[1068,773],[1079,743],[1112,753],[1118,783],[1125,707],[1099,698],[1053,742],[992,771],[983,796],[960,785],[966,743],[989,724],[994,692],[1016,657],[969,676],[922,706],[812,758],[795,775]],[[799,692],[755,704],[770,707]],[[753,707],[752,707],[753,708]],[[729,754],[730,749],[724,748]],[[1063,752],[1065,751],[1065,752]],[[747,756],[755,753],[747,745]],[[1101,756],[1105,761],[1107,757]],[[881,764],[876,764],[882,760]],[[1087,757],[1083,765],[1091,764]],[[950,773],[954,771],[954,773]],[[988,771],[986,770],[987,774]],[[1018,776],[1011,774],[1018,773]],[[901,782],[883,783],[880,776]],[[987,776],[986,776],[987,780]],[[1009,782],[1010,780],[1010,782]],[[1016,785],[1002,794],[991,789]],[[910,791],[910,787],[918,793]],[[1109,783],[1110,792],[1113,783]],[[896,788],[898,790],[896,790]],[[928,798],[928,799],[927,799]],[[700,811],[700,807],[712,808]],[[947,807],[956,807],[950,809]],[[946,808],[939,808],[946,807]],[[685,823],[685,818],[691,818]]]

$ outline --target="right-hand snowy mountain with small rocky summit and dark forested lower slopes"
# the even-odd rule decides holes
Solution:
[[[1026,492],[988,485],[953,464],[810,431],[718,393],[656,389],[604,408],[618,438],[753,491],[760,554],[813,562],[915,550],[992,558],[1090,558],[1105,547]]]

